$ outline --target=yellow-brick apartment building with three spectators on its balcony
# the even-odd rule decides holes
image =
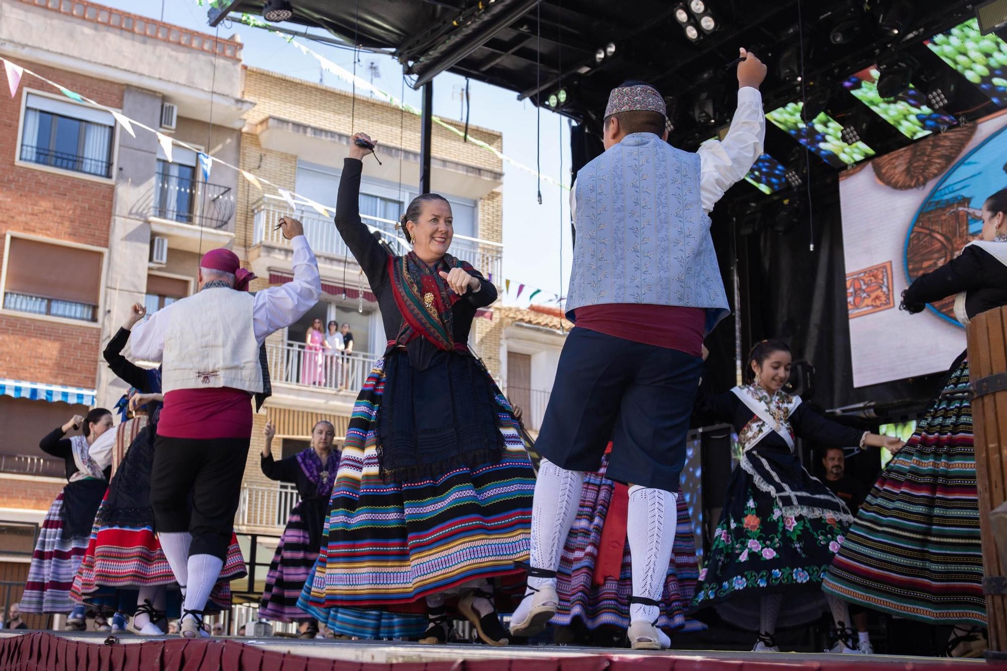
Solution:
[[[349,138],[353,132],[364,131],[380,143],[382,164],[372,157],[365,161],[361,210],[377,235],[402,253],[408,248],[394,226],[418,190],[420,120],[367,95],[357,95],[354,102],[347,92],[255,68],[245,69],[242,96],[255,105],[245,117],[242,169],[330,209],[322,215],[306,200],[296,200],[291,207],[284,198],[244,180],[238,187],[235,249],[260,278],[253,283],[253,290],[292,276],[289,244],[274,231],[284,215],[296,216],[304,223],[305,235],[318,258],[323,289],[322,299],[312,310],[296,324],[270,337],[266,345],[273,396],[256,417],[238,528],[263,534],[257,536],[261,540],[256,563],[268,564],[271,543],[266,535],[277,533],[285,523],[296,493],[263,477],[259,465],[263,426],[267,420],[276,424],[279,444],[274,444],[274,451],[284,455],[303,449],[311,427],[322,418],[334,424],[336,442],[340,443],[356,392],[386,348],[375,296],[332,221]],[[462,128],[462,124],[457,126]],[[468,132],[502,148],[497,132],[474,126]],[[501,162],[436,125],[432,147],[432,188],[450,200],[454,215],[451,252],[499,285]],[[492,308],[480,312],[470,345],[492,374],[499,376],[500,332],[493,327],[493,317]],[[338,365],[326,360],[320,375],[317,355],[305,345],[314,318],[325,324],[348,323],[353,336],[352,354],[341,358]]]

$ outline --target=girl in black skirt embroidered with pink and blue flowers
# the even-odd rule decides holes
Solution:
[[[697,401],[705,420],[733,424],[743,451],[693,606],[716,607],[732,625],[758,632],[754,651],[777,652],[777,625],[803,625],[821,616],[822,576],[853,521],[846,504],[801,464],[795,438],[893,452],[902,441],[831,422],[784,392],[790,378],[790,349],[784,343],[756,345],[746,369],[747,385],[701,394]],[[857,652],[846,601],[835,596],[828,601],[837,630],[831,652]]]

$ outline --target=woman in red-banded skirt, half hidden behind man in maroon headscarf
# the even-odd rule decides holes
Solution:
[[[178,583],[157,540],[157,525],[150,507],[150,471],[154,462],[154,435],[164,397],[161,370],[146,370],[122,355],[131,329],[146,315],[136,303],[126,322],[109,341],[104,357],[109,368],[136,392],[129,399],[133,418],[119,425],[109,490],[95,517],[94,541],[77,577],[71,595],[92,607],[114,608],[113,630],[126,629],[125,615],[132,615],[129,631],[141,636],[163,636],[166,617],[181,615]],[[231,608],[228,582],[245,575],[245,564],[236,537],[228,548],[222,578],[210,594],[207,611]],[[138,608],[139,606],[139,608]]]

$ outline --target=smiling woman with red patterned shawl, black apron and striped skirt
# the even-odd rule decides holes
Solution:
[[[371,235],[359,215],[369,151],[349,145],[335,226],[378,297],[388,349],[357,396],[327,552],[298,605],[330,621],[332,607],[425,601],[421,642],[442,644],[453,593],[483,642],[506,645],[493,582],[524,574],[535,475],[510,404],[467,348],[475,312],[496,288],[448,254],[451,207],[436,193],[414,198],[401,220],[409,254],[393,256]]]

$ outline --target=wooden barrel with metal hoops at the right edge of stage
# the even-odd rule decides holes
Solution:
[[[1007,651],[1007,580],[990,521],[1007,492],[1007,307],[976,315],[967,328],[972,426],[983,542],[983,590],[991,650]],[[1007,559],[1007,557],[1004,557]]]

